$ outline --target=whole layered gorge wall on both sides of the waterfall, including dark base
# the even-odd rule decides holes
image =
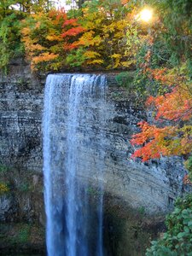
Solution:
[[[144,255],[150,239],[164,229],[164,217],[154,217],[172,209],[173,201],[183,195],[185,170],[182,160],[131,160],[131,135],[137,122],[148,114],[137,101],[127,96],[116,83],[115,74],[106,74],[108,90],[103,116],[107,119],[102,145],[105,145],[104,243],[108,256]],[[42,159],[42,115],[46,76],[31,73],[25,61],[15,60],[9,74],[0,77],[0,253],[44,253],[44,184]],[[61,117],[65,123],[65,115]],[[90,124],[96,131],[96,116]],[[80,127],[79,136],[83,136]],[[94,141],[94,136],[93,136]],[[61,136],[65,143],[65,136]],[[93,142],[94,144],[94,142]],[[100,147],[98,143],[96,148]],[[92,148],[94,150],[94,148]],[[94,154],[84,145],[82,162],[89,161],[93,203],[97,196]],[[84,170],[84,166],[81,166]],[[6,185],[7,190],[3,190]],[[148,214],[151,215],[148,218]],[[28,235],[27,235],[28,234]],[[27,235],[27,236],[26,236]],[[24,242],[26,241],[26,242]]]

